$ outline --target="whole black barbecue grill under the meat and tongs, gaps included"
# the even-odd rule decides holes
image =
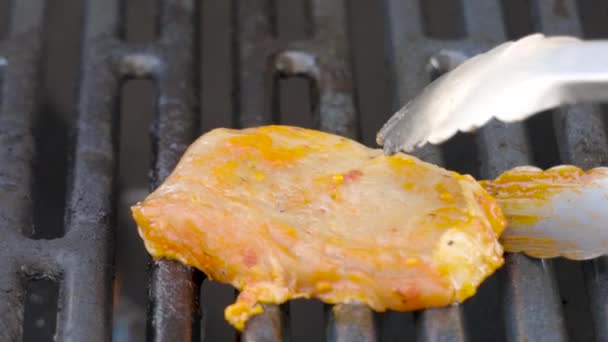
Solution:
[[[152,39],[129,38],[146,13],[152,29],[143,36]],[[221,321],[235,295],[229,287],[174,261],[150,261],[149,282],[124,272],[121,263],[146,256],[124,231],[134,227],[117,220],[141,197],[117,185],[124,173],[147,167],[143,150],[151,149],[150,177],[140,178],[153,188],[194,138],[217,126],[293,124],[373,145],[388,116],[449,68],[428,64],[440,49],[474,54],[532,31],[608,37],[607,4],[15,0],[0,1],[0,14],[10,19],[0,23],[1,341],[125,341],[143,338],[144,330],[153,341],[608,341],[607,259],[522,255],[507,255],[461,306],[375,314],[297,300],[266,306],[236,334]],[[80,66],[56,58],[66,74],[45,64],[65,52],[54,47],[65,42],[49,25],[78,32]],[[48,84],[77,72],[75,119],[53,116]],[[154,85],[144,91],[153,102],[144,106],[154,112],[150,147],[137,133],[147,129],[145,110],[120,105],[141,95],[125,90],[131,79]],[[70,138],[61,136],[70,127]],[[577,105],[524,123],[491,122],[415,154],[490,178],[525,164],[606,166],[608,140],[602,107]],[[58,166],[64,160],[65,172]],[[137,247],[125,252],[121,239],[129,236]],[[147,315],[129,311],[125,288],[148,289]],[[129,324],[133,315],[146,315],[146,326]]]

